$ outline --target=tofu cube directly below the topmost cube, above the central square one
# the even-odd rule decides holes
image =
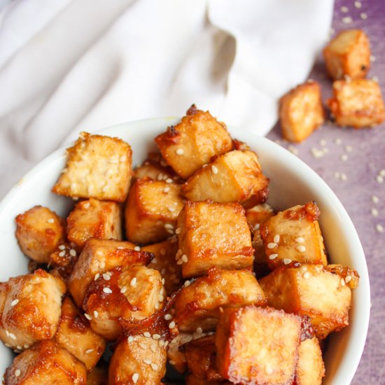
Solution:
[[[267,200],[269,179],[253,151],[230,151],[202,167],[183,185],[188,200],[240,202],[244,207]]]

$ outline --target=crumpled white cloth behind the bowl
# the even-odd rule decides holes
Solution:
[[[332,0],[25,0],[0,13],[0,197],[38,160],[193,102],[266,134],[328,36]]]

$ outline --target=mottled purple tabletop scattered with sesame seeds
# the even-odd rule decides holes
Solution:
[[[332,28],[336,32],[360,28],[367,33],[375,57],[367,77],[378,78],[385,97],[385,1],[356,3],[361,8],[357,8],[354,1],[336,0]],[[348,11],[344,12],[346,9],[342,7]],[[361,13],[365,13],[367,18]],[[352,21],[343,22],[346,17]],[[331,81],[325,75],[321,57],[309,78],[321,83],[323,99],[330,97]],[[281,146],[297,151],[297,156],[332,188],[356,226],[369,269],[372,308],[365,350],[351,384],[385,384],[385,269],[382,267],[385,258],[385,177],[384,183],[376,180],[381,169],[385,170],[385,125],[353,130],[325,123],[303,144],[294,145],[281,139],[277,125],[267,137],[278,139]],[[336,140],[341,143],[337,144]],[[346,151],[346,146],[351,146],[351,152]],[[327,148],[328,153],[315,158],[311,153],[313,148]],[[347,160],[341,159],[344,154]],[[344,173],[346,181],[337,179],[336,172]],[[379,198],[377,204],[372,202],[372,195]],[[377,209],[378,216],[372,215],[372,209]],[[377,224],[383,226],[384,232],[376,230]]]

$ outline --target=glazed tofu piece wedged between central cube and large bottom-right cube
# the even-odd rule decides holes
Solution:
[[[249,270],[221,270],[213,267],[182,290],[174,302],[175,321],[182,332],[215,330],[221,309],[246,304],[265,306],[267,300]]]

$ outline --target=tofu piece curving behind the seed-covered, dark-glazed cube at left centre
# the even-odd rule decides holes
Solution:
[[[146,265],[150,262],[151,253],[136,251],[135,247],[131,242],[106,239],[87,241],[68,280],[69,292],[80,309],[83,308],[85,292],[95,276],[100,276],[114,267]]]

